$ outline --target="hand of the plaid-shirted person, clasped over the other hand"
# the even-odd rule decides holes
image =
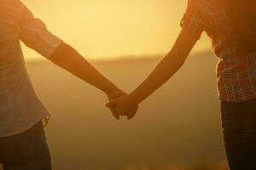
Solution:
[[[138,105],[131,101],[129,95],[124,95],[118,99],[113,99],[108,104],[106,104],[108,108],[115,108],[115,111],[119,114],[119,116],[127,116],[128,119],[133,118],[138,109]]]

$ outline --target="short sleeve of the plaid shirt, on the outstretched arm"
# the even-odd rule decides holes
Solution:
[[[201,9],[196,0],[188,0],[186,13],[180,23],[183,29],[186,29],[192,37],[200,39],[202,32],[205,30],[204,20]]]

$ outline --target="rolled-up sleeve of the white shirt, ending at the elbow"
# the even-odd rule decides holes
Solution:
[[[15,8],[19,12],[17,14],[20,40],[26,44],[27,47],[36,50],[46,59],[55,52],[55,49],[61,44],[61,39],[55,37],[42,20],[33,16],[33,14],[26,8],[26,6],[17,1]]]

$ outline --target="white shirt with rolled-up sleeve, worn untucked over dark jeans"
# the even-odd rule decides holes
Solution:
[[[24,132],[49,116],[32,88],[20,41],[47,59],[61,44],[19,0],[0,0],[0,137]]]

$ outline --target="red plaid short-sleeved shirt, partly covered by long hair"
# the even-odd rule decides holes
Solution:
[[[242,102],[256,98],[256,53],[238,57],[238,43],[232,37],[232,27],[221,4],[188,0],[181,26],[197,39],[203,31],[211,37],[212,48],[218,56],[219,99]]]

